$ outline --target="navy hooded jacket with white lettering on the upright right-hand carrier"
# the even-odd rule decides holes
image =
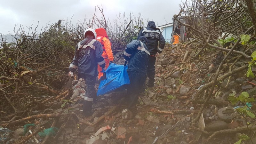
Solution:
[[[149,21],[147,28],[143,28],[140,30],[138,39],[140,36],[147,37],[147,47],[151,56],[156,55],[156,52],[161,53],[163,51],[165,45],[164,36],[160,32],[160,30],[156,28],[156,24],[154,21]],[[158,42],[159,47],[157,48]]]

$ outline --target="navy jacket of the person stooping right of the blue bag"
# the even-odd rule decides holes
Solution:
[[[127,71],[147,73],[149,56],[145,41],[133,40],[127,44],[124,52],[124,59],[128,61]]]

